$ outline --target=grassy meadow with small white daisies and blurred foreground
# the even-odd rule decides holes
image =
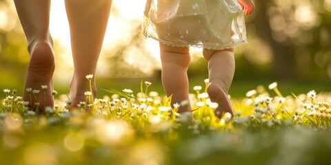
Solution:
[[[0,164],[330,164],[330,91],[283,96],[271,83],[230,98],[234,116],[217,118],[207,85],[192,88],[186,113],[147,81],[139,91],[103,88],[94,102],[86,91],[78,109],[54,93],[42,115],[3,89]]]

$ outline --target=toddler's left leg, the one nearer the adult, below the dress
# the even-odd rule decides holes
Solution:
[[[162,83],[167,96],[172,95],[172,105],[180,104],[187,100],[179,108],[178,112],[190,111],[190,98],[188,96],[188,66],[190,65],[190,52],[188,47],[172,47],[160,43]]]

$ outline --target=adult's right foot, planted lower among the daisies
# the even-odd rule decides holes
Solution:
[[[75,76],[72,76],[70,80],[70,94],[69,99],[71,100],[71,107],[77,107],[77,104],[80,102],[92,103],[94,102],[94,98],[97,94],[97,89],[95,87],[94,78],[92,79],[92,100],[87,100],[85,92],[90,91],[90,81],[82,76],[80,80],[77,80]]]

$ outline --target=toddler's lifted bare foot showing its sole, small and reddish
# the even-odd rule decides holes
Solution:
[[[215,109],[215,115],[218,118],[222,117],[223,113],[231,113],[233,116],[233,111],[231,107],[230,99],[228,98],[228,94],[222,89],[221,85],[217,85],[217,83],[210,83],[207,89],[209,98],[212,102],[217,102],[219,107]]]

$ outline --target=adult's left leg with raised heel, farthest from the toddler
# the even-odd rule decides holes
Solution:
[[[37,110],[35,102],[39,102],[39,109],[53,107],[52,98],[54,73],[53,43],[49,32],[50,0],[15,0],[17,14],[28,40],[30,61],[26,72],[25,89],[39,90],[39,94],[24,91],[23,100],[30,102],[30,108]],[[41,89],[41,85],[47,88]],[[44,86],[46,87],[46,86]],[[37,98],[37,100],[36,100]]]

